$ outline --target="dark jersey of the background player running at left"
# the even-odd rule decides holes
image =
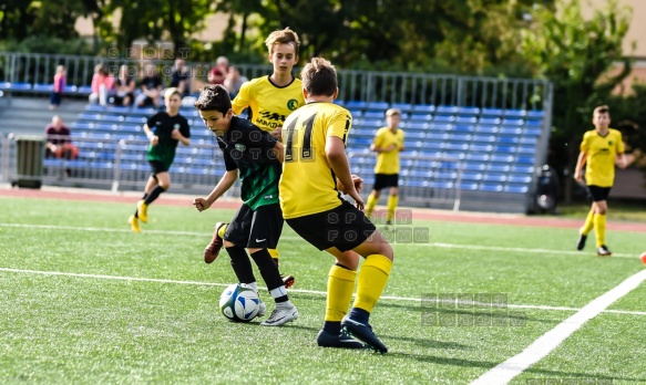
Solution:
[[[146,125],[153,134],[160,137],[160,143],[156,146],[148,145],[148,160],[161,162],[166,168],[171,168],[175,158],[175,148],[177,148],[177,144],[180,143],[180,141],[173,139],[171,135],[173,134],[173,129],[180,129],[180,133],[184,137],[191,137],[188,122],[180,114],[171,116],[166,112],[158,112],[148,117]]]

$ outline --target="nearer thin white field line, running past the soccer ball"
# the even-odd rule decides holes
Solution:
[[[201,282],[201,281],[178,281],[178,280],[166,280],[158,278],[140,278],[140,277],[119,277],[119,275],[103,275],[103,274],[83,274],[83,273],[71,273],[63,271],[42,271],[42,270],[25,270],[25,269],[11,269],[11,268],[0,268],[0,272],[9,273],[22,273],[22,274],[40,274],[40,275],[60,275],[60,277],[75,277],[75,278],[91,278],[91,279],[102,279],[102,280],[114,280],[114,281],[134,281],[134,282],[156,282],[156,283],[171,283],[171,284],[187,284],[197,287],[222,287],[226,288],[230,283],[215,283],[215,282]],[[305,290],[305,289],[289,289],[290,293],[307,293],[315,295],[327,295],[325,291],[317,290]],[[422,303],[422,298],[411,298],[411,296],[394,296],[394,295],[383,295],[380,298],[386,301],[397,301],[397,302],[419,302]],[[448,302],[448,301],[439,301]],[[453,302],[452,302],[453,303]],[[464,302],[457,301],[454,303],[462,303],[469,305],[483,305],[492,306],[490,303],[479,303],[479,302]],[[566,311],[576,312],[581,309],[577,308],[564,308],[564,306],[548,306],[548,305],[525,305],[525,304],[507,304],[506,308],[510,309],[527,309],[527,310],[546,310],[546,311]],[[627,310],[605,310],[606,313],[617,313],[617,314],[629,314],[629,315],[646,315],[646,312],[627,311]]]

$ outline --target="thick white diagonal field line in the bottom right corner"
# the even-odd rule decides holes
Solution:
[[[572,335],[572,333],[583,326],[584,323],[597,316],[615,301],[637,288],[644,282],[644,280],[646,280],[646,270],[642,270],[638,273],[630,275],[624,282],[619,283],[605,294],[596,298],[574,315],[561,322],[556,327],[540,336],[524,351],[484,373],[478,379],[473,381],[471,385],[507,384],[515,376],[550,354],[554,348],[561,345],[563,341]]]

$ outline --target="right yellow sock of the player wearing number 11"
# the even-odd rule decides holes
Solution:
[[[366,258],[366,262],[359,271],[359,284],[357,287],[357,298],[352,308],[363,309],[368,313],[377,304],[377,300],[381,296],[392,261],[380,254],[372,254]]]

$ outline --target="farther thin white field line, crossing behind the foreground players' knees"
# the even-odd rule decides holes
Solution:
[[[101,228],[101,227],[74,227],[74,226],[59,226],[59,225],[28,225],[28,223],[0,223],[1,227],[7,228],[28,228],[28,229],[45,229],[45,230],[68,230],[68,231],[93,231],[93,232],[123,232],[132,233],[130,229],[114,229],[114,228]],[[197,231],[170,231],[170,230],[146,230],[142,235],[170,235],[170,236],[191,236],[191,237],[204,237],[211,239],[211,233],[197,232]],[[137,236],[142,236],[137,235]],[[280,237],[285,240],[300,240],[299,237]],[[480,244],[455,244],[455,243],[443,243],[443,242],[429,242],[429,243],[393,243],[397,248],[398,244],[414,247],[432,247],[432,248],[444,248],[444,249],[464,249],[464,250],[482,250],[482,251],[511,251],[511,252],[523,252],[523,253],[536,253],[536,254],[557,254],[557,256],[578,256],[578,257],[589,257],[589,253],[585,253],[576,250],[555,250],[555,249],[527,249],[527,248],[515,248],[515,247],[499,247],[499,246],[480,246]],[[633,258],[636,259],[637,256],[614,252],[612,258]]]

